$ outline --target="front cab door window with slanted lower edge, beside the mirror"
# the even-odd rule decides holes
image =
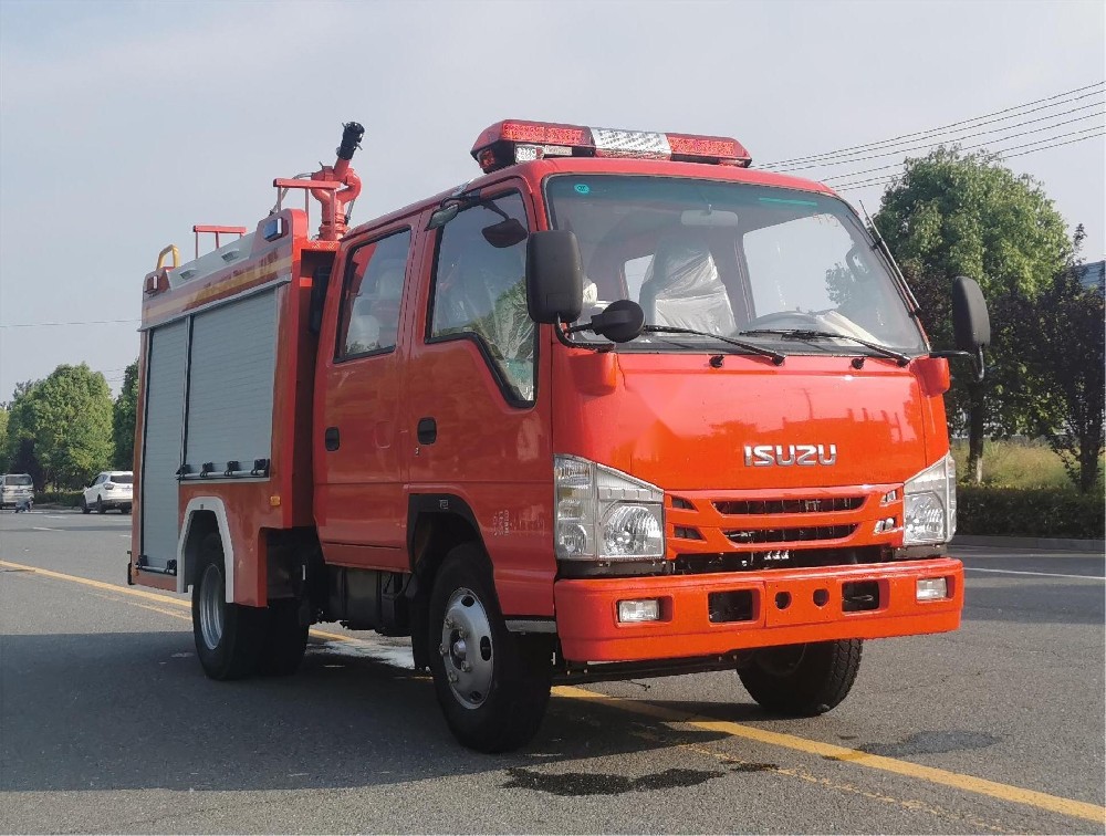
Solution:
[[[473,339],[508,399],[534,398],[534,323],[526,311],[526,212],[519,192],[462,210],[441,230],[431,342]]]

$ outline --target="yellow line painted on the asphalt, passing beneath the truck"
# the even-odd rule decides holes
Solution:
[[[23,569],[36,575],[42,575],[43,577],[51,577],[58,581],[69,581],[71,583],[92,586],[97,589],[107,589],[116,594],[132,595],[135,597],[156,600],[161,604],[173,604],[180,607],[191,606],[189,602],[180,598],[170,598],[167,595],[158,595],[144,589],[134,589],[128,586],[107,584],[103,581],[92,581],[86,577],[65,575],[61,572],[52,572],[50,569],[39,568],[38,566],[27,566],[20,563],[10,563],[9,561],[0,561],[0,566]],[[173,614],[167,613],[167,615]],[[351,636],[343,636],[337,633],[325,633],[323,630],[312,630],[312,634],[322,638],[338,639],[342,641],[357,640]],[[1010,784],[1000,784],[995,781],[988,781],[985,778],[974,777],[973,775],[964,775],[959,772],[940,770],[935,766],[924,766],[909,761],[899,761],[894,757],[885,757],[884,755],[868,754],[867,752],[862,752],[857,749],[847,749],[833,743],[822,743],[816,740],[799,738],[794,734],[766,731],[764,729],[758,729],[752,725],[744,725],[742,723],[734,723],[727,720],[711,720],[697,714],[682,714],[662,706],[656,706],[649,702],[639,702],[637,700],[628,700],[622,697],[611,697],[605,693],[588,691],[573,686],[559,686],[553,689],[553,692],[557,697],[564,697],[566,699],[607,703],[624,711],[651,717],[665,722],[685,723],[693,729],[701,729],[716,734],[724,734],[731,738],[743,738],[745,740],[752,740],[771,746],[790,749],[796,752],[805,752],[806,754],[821,755],[822,757],[828,757],[834,761],[853,763],[857,766],[881,770],[883,772],[890,772],[905,777],[927,781],[931,784],[950,786],[954,790],[960,790],[961,792],[987,795],[992,798],[998,798],[999,801],[1024,804],[1031,807],[1037,807],[1039,809],[1048,811],[1050,813],[1060,813],[1061,815],[1083,818],[1096,824],[1106,824],[1106,807],[1100,807],[1097,804],[1088,804],[1073,798],[1064,798],[1058,795],[1040,793],[1035,790],[1024,790]]]

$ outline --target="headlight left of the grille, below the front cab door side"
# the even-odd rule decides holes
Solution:
[[[665,556],[665,494],[575,456],[553,457],[556,556],[563,561]]]

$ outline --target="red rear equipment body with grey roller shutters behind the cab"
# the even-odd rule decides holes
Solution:
[[[281,219],[289,230],[281,240],[254,233],[147,278],[154,292],[143,306],[135,583],[185,591],[187,578],[176,571],[184,512],[192,500],[213,498],[233,535],[228,598],[263,606],[262,531],[313,524],[315,346],[306,316],[312,273],[333,259],[336,244],[310,241],[302,211],[285,210]],[[212,257],[231,265],[202,275],[197,265]],[[191,281],[190,269],[201,276]]]

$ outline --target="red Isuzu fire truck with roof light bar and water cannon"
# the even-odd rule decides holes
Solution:
[[[554,681],[732,669],[815,714],[864,639],[959,626],[972,280],[933,352],[827,187],[513,119],[481,177],[349,229],[362,134],[145,279],[128,581],[191,589],[208,676],[292,672],[316,621],[410,636],[456,736],[502,751]]]

